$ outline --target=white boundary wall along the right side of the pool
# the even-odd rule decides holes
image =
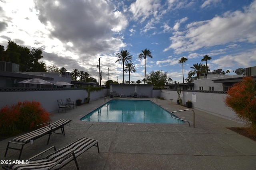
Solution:
[[[162,90],[160,96],[166,100],[173,99],[173,102],[176,102],[178,98],[177,91],[175,90]],[[188,100],[191,100],[192,108],[233,121],[236,120],[236,113],[224,103],[224,98],[226,98],[227,94],[185,91],[181,92],[180,96],[184,105],[186,105]]]

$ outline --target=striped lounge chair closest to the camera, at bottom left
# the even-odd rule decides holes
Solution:
[[[78,157],[80,154],[84,153],[86,150],[90,149],[93,146],[97,147],[98,153],[100,153],[97,140],[82,137],[81,139],[57,151],[54,146],[44,150],[43,152],[33,156],[32,158],[29,158],[28,164],[8,164],[6,166],[3,166],[3,168],[6,170],[56,170],[61,169],[63,166],[74,160],[74,162],[76,163],[76,168],[79,170],[76,157]],[[52,148],[54,148],[55,152],[49,154],[45,158],[34,160],[35,157],[43,154],[44,152]]]

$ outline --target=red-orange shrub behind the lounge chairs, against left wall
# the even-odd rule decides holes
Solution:
[[[41,106],[40,102],[18,102],[10,107],[1,108],[0,133],[13,135],[20,131],[34,129],[36,125],[48,121],[50,121],[50,113]]]

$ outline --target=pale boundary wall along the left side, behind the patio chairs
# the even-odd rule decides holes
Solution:
[[[103,98],[107,89],[101,91],[94,91],[90,94],[90,101]],[[82,99],[84,103],[87,97],[86,90],[49,90],[49,91],[26,91],[26,92],[0,92],[0,107],[6,105],[11,106],[12,104],[17,104],[18,102],[24,101],[38,101],[42,104],[42,107],[48,112],[53,112],[58,110],[57,100],[62,99],[65,103],[67,98],[71,100]]]

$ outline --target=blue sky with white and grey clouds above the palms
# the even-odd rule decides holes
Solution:
[[[132,55],[136,72],[130,81],[146,74],[167,72],[182,82],[193,64],[210,70],[256,66],[256,0],[0,0],[0,45],[9,40],[30,49],[41,49],[46,65],[88,72],[102,84],[122,82],[122,64],[116,53]],[[124,73],[124,80],[129,74]]]

